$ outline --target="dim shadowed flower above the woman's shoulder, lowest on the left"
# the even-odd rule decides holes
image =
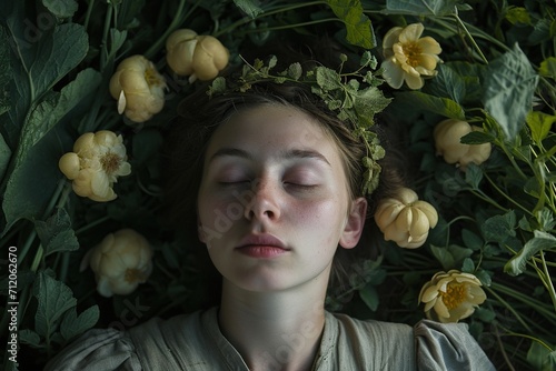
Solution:
[[[152,272],[149,241],[132,229],[110,233],[85,258],[97,280],[97,291],[106,298],[133,292]]]

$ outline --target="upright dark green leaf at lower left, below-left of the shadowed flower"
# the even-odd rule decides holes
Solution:
[[[34,297],[39,302],[34,327],[41,337],[50,337],[57,330],[63,313],[77,304],[70,288],[44,271],[38,274],[34,282]]]

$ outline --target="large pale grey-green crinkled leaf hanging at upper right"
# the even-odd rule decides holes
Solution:
[[[506,140],[513,141],[522,130],[533,106],[538,76],[517,44],[488,64],[483,103],[500,126]]]

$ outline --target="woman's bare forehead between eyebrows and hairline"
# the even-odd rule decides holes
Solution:
[[[228,146],[262,151],[317,149],[329,156],[338,152],[321,123],[295,107],[282,104],[262,104],[232,113],[212,134],[207,154]]]

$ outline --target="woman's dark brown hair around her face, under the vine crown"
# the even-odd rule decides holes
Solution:
[[[403,186],[399,152],[390,144],[387,130],[380,124],[375,130],[386,150],[379,161],[383,167],[378,189],[370,195],[361,192],[361,159],[366,148],[356,140],[350,129],[331,112],[326,103],[314,96],[307,87],[296,83],[276,84],[261,82],[254,84],[247,92],[230,92],[208,98],[203,89],[187,97],[179,107],[179,119],[172,123],[167,136],[166,204],[169,220],[179,229],[187,229],[190,235],[197,234],[197,194],[202,176],[203,156],[209,139],[220,123],[230,114],[261,104],[285,104],[295,107],[315,118],[325,132],[337,143],[344,159],[351,199],[366,197],[368,214],[373,214],[378,200],[394,194]],[[376,254],[383,241],[376,239],[373,218],[367,218],[366,234],[353,250],[338,249],[330,277],[330,285],[349,285],[351,270],[364,259]],[[373,235],[370,235],[373,234]]]

